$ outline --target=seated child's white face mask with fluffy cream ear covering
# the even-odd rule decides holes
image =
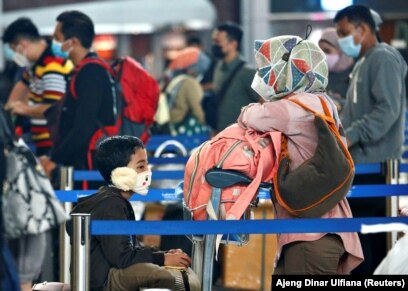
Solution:
[[[119,167],[112,171],[112,184],[123,191],[133,191],[140,195],[146,195],[152,182],[150,170],[137,173],[129,167]]]

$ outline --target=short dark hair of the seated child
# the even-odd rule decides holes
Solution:
[[[96,167],[107,183],[111,183],[111,173],[118,167],[126,167],[131,156],[144,149],[143,142],[135,136],[118,135],[100,141],[95,152]]]

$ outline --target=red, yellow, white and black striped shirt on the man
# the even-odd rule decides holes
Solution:
[[[29,104],[54,104],[66,90],[67,76],[73,68],[72,62],[54,56],[48,45],[34,65],[23,73],[22,81],[29,87]],[[47,121],[30,118],[31,138],[37,149],[52,147]]]

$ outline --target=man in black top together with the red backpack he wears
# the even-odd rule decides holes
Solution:
[[[149,139],[160,89],[157,81],[134,59],[123,57],[112,66],[91,51],[92,20],[79,11],[57,17],[54,39],[75,64],[62,106],[57,142],[46,171],[55,162],[92,169],[92,156],[101,137],[127,134]],[[143,106],[141,106],[143,104]],[[58,115],[53,108],[49,118]],[[57,114],[55,114],[55,112]]]

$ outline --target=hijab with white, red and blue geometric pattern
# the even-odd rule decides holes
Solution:
[[[255,41],[258,76],[269,86],[267,101],[291,93],[321,92],[328,82],[324,52],[313,42],[284,35]]]

